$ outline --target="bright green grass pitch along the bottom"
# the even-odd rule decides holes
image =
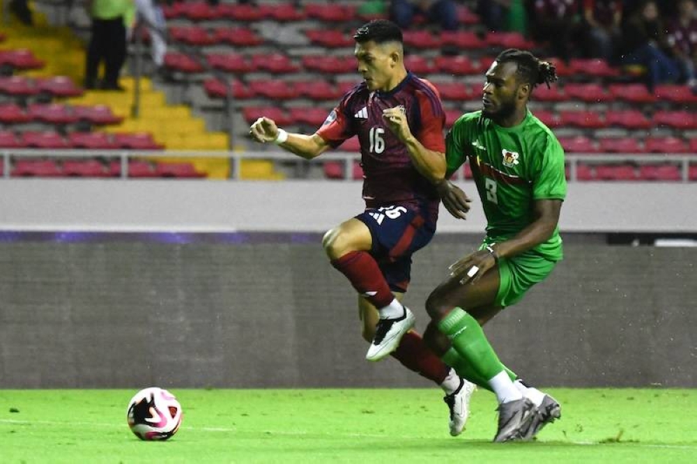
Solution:
[[[493,395],[447,433],[438,389],[176,389],[167,442],[125,421],[133,390],[0,390],[0,463],[695,463],[697,390],[550,389],[562,419],[491,443]]]

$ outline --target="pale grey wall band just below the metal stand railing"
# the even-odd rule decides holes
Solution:
[[[461,183],[476,196],[472,183]],[[0,180],[3,231],[325,231],[360,212],[360,182]],[[568,232],[697,232],[697,183],[570,183]],[[441,232],[482,233],[442,209]]]

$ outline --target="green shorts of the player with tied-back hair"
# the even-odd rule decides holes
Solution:
[[[482,248],[487,244],[482,245]],[[513,258],[498,260],[498,275],[501,283],[496,294],[496,304],[507,307],[519,302],[535,284],[543,281],[554,269],[556,261],[539,256],[535,252],[525,252]]]

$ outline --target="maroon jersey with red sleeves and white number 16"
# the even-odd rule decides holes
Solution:
[[[348,91],[317,130],[330,146],[358,136],[363,168],[363,199],[368,208],[400,204],[435,224],[436,188],[413,166],[406,146],[383,118],[383,109],[404,109],[412,134],[429,150],[445,153],[445,113],[441,96],[427,80],[408,73],[392,91],[369,91],[365,83]]]

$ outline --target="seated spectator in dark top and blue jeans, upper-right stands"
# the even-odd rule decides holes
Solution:
[[[670,56],[666,27],[654,0],[645,0],[622,27],[622,55],[625,65],[646,68],[646,85],[650,90],[656,84],[677,82],[680,68]]]

